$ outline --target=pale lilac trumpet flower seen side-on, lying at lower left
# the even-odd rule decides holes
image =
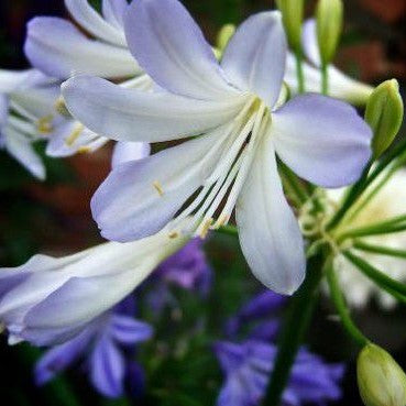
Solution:
[[[35,255],[18,268],[0,270],[0,321],[9,330],[9,342],[51,345],[74,338],[186,242],[163,230],[61,259]]]

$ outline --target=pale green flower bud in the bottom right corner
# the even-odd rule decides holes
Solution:
[[[406,374],[382,348],[364,347],[358,358],[356,374],[365,406],[406,405]]]

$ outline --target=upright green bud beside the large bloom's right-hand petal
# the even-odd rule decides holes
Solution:
[[[366,103],[365,121],[374,133],[372,150],[380,157],[392,144],[403,121],[403,101],[396,79],[381,84]]]

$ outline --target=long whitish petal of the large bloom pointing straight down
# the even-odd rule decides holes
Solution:
[[[272,290],[293,294],[305,278],[304,242],[282,189],[271,136],[259,145],[235,215],[253,274]]]

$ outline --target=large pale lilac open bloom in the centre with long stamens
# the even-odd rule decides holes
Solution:
[[[124,28],[130,51],[163,91],[79,76],[63,88],[69,111],[117,140],[201,135],[112,171],[92,200],[102,235],[136,240],[174,217],[176,233],[177,222],[194,213],[180,232],[205,237],[226,224],[237,205],[240,242],[253,273],[267,287],[292,294],[305,276],[305,255],[276,154],[318,185],[351,184],[370,157],[369,127],[350,106],[317,95],[274,109],[287,52],[278,12],[246,20],[221,65],[177,0],[132,2]]]

